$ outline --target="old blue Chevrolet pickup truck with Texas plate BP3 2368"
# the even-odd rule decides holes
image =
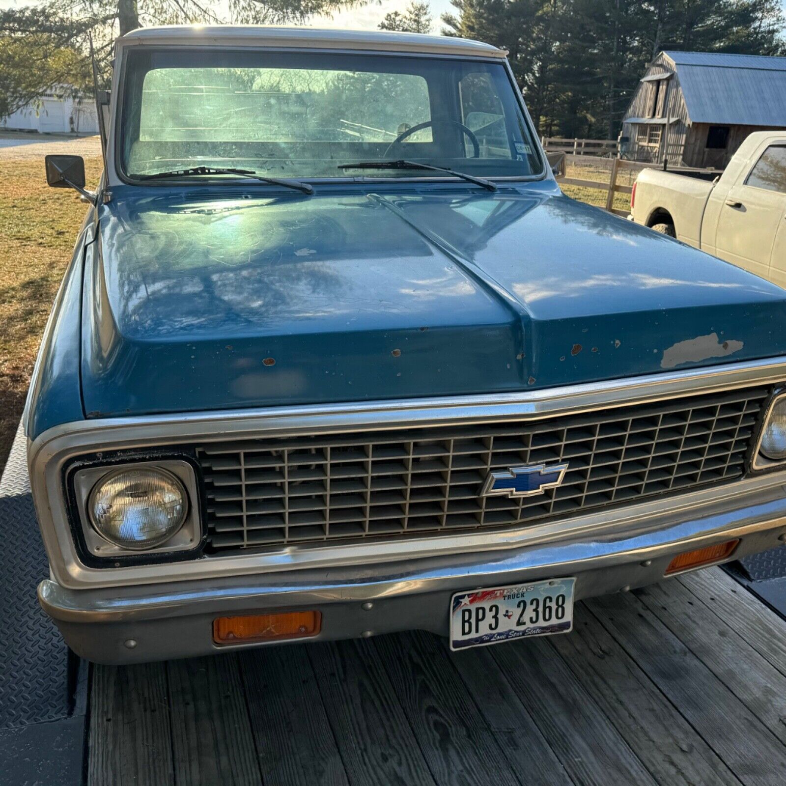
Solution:
[[[786,292],[564,196],[505,52],[149,28],[103,109],[24,418],[80,655],[564,633],[784,537]]]

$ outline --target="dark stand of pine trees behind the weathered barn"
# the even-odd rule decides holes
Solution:
[[[509,50],[539,129],[615,138],[664,49],[786,53],[780,0],[451,0],[445,35]]]

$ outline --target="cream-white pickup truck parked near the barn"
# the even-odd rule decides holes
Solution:
[[[631,218],[786,287],[786,130],[757,131],[714,182],[645,169]]]

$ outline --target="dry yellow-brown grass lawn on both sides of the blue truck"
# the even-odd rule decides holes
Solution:
[[[101,174],[100,156],[85,159],[87,182]],[[584,167],[582,167],[583,169]],[[587,171],[571,177],[602,180]],[[608,182],[608,181],[607,181]],[[567,196],[604,206],[602,190],[564,186]],[[628,197],[617,194],[615,208]],[[30,374],[86,205],[75,192],[46,185],[42,158],[0,159],[0,471],[24,407]]]

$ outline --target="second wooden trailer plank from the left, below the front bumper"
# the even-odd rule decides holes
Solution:
[[[167,670],[175,783],[258,786],[237,656],[172,660]]]

